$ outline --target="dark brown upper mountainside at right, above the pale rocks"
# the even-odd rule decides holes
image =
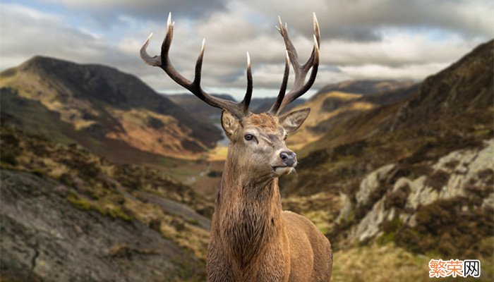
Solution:
[[[431,135],[437,139],[435,144],[444,141],[452,145],[438,146],[445,153],[448,149],[462,148],[461,140],[488,136],[492,111],[492,80],[488,73],[492,70],[488,64],[481,62],[492,61],[489,48],[489,42],[482,44],[449,68],[424,80],[408,99],[351,118],[304,149],[306,152],[316,152],[370,137],[373,137],[371,140],[378,140],[382,134],[390,135],[388,137],[393,141],[414,141],[415,147],[422,145],[426,136]],[[448,140],[447,135],[452,139]],[[410,140],[410,136],[418,139]],[[411,144],[402,145],[404,147],[400,149],[412,149]],[[383,151],[383,155],[392,154]]]

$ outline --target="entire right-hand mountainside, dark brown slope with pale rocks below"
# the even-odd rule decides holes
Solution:
[[[476,257],[482,280],[492,280],[493,47],[481,44],[405,99],[386,98],[302,149],[282,193],[311,199],[336,250],[392,243]]]

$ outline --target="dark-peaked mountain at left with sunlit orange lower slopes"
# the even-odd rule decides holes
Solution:
[[[36,56],[0,73],[1,116],[123,163],[187,157],[221,133],[133,75]]]

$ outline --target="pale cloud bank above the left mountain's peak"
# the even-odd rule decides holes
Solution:
[[[113,41],[85,27],[70,27],[57,14],[18,4],[2,4],[1,18],[1,69],[41,55],[76,63],[101,63],[135,75],[149,73],[138,55],[141,36]]]

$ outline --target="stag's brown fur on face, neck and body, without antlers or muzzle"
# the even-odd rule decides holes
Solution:
[[[278,118],[252,114],[222,122],[231,142],[207,248],[208,279],[330,281],[329,240],[308,219],[282,211],[272,166],[288,149]],[[245,134],[257,136],[257,143],[244,140]]]

